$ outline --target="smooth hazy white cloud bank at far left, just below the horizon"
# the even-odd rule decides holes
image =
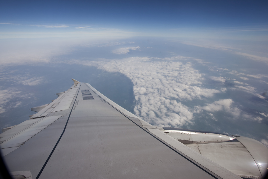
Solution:
[[[89,43],[98,44],[93,39],[89,42],[87,38],[64,38],[60,41],[57,38],[28,38],[0,42],[0,65],[40,65],[51,62],[52,56],[69,54],[75,50],[73,46]]]

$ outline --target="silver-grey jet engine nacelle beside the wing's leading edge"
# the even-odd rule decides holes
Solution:
[[[240,177],[262,178],[268,172],[268,147],[252,138],[211,131],[157,128]]]

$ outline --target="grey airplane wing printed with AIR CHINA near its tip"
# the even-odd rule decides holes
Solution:
[[[240,178],[126,111],[88,83],[3,129],[10,174],[25,178]]]

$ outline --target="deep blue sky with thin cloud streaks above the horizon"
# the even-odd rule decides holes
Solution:
[[[97,33],[267,40],[267,7],[267,1],[245,0],[5,1],[0,38]]]

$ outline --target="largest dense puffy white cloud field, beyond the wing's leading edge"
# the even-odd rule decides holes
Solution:
[[[181,101],[212,97],[219,90],[201,87],[202,74],[185,62],[189,57],[131,57],[120,60],[71,60],[69,63],[96,66],[120,72],[131,79],[136,99],[134,112],[157,126],[180,126],[191,123],[193,111]],[[183,63],[178,62],[183,60]]]

